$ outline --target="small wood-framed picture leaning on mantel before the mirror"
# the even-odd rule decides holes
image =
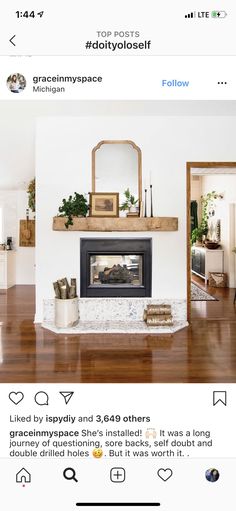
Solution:
[[[119,193],[90,193],[90,216],[118,217]]]

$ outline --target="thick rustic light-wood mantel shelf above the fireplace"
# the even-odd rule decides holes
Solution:
[[[178,218],[74,218],[69,229],[65,227],[66,217],[53,218],[54,231],[99,231],[99,232],[129,232],[129,231],[178,231]]]

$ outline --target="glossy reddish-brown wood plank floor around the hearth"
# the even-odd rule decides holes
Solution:
[[[33,324],[33,287],[0,292],[0,382],[236,382],[234,290],[210,292],[171,337],[55,335]]]

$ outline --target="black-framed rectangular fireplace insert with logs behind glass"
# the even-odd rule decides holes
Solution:
[[[151,297],[151,238],[82,238],[81,297]]]

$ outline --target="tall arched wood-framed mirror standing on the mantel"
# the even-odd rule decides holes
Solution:
[[[132,140],[101,140],[92,150],[92,192],[129,188],[142,202],[142,151]]]

